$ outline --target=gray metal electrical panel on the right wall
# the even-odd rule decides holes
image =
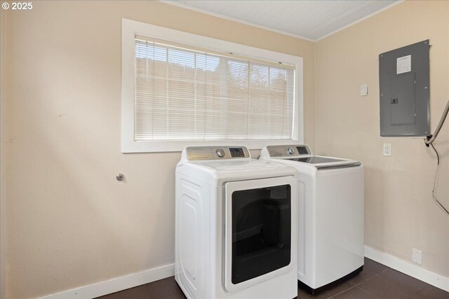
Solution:
[[[429,135],[429,40],[379,55],[380,136]]]

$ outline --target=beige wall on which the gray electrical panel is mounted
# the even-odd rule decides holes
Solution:
[[[430,115],[449,99],[449,2],[405,1],[316,43],[316,148],[366,167],[365,243],[449,277],[449,217],[431,196],[436,155],[420,138],[381,138],[378,55],[430,39]],[[368,83],[368,96],[359,86]],[[392,144],[392,156],[382,144]],[[449,119],[435,141],[437,196],[449,207]]]

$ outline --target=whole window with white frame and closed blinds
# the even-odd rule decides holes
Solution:
[[[300,57],[123,19],[124,153],[302,141],[301,87]]]

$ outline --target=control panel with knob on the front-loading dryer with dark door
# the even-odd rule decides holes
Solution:
[[[187,160],[251,158],[245,146],[192,146],[185,149]]]

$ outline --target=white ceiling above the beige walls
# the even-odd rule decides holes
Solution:
[[[318,41],[401,1],[165,1],[302,39]]]

